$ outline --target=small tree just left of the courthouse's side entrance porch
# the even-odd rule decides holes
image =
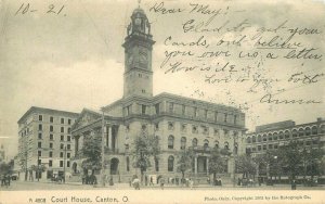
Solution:
[[[194,156],[193,149],[184,149],[178,153],[178,171],[182,173],[182,179],[184,179],[186,170],[192,170]]]

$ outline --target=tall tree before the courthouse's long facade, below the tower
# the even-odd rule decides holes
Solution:
[[[133,149],[133,167],[140,168],[141,181],[143,181],[144,171],[152,166],[151,157],[158,158],[160,153],[159,138],[156,136],[141,135],[134,138]]]

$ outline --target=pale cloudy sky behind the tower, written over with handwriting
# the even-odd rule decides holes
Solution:
[[[0,143],[5,144],[9,156],[17,152],[17,120],[30,106],[80,113],[83,107],[99,110],[122,97],[125,56],[121,44],[131,13],[139,7],[138,1],[2,0],[0,3]],[[165,12],[162,7],[152,9],[161,3]],[[170,92],[240,106],[250,131],[258,125],[280,120],[292,119],[301,124],[325,117],[323,56],[317,60],[288,60],[283,56],[292,49],[261,49],[255,46],[256,40],[251,40],[252,36],[260,34],[262,39],[269,41],[274,36],[284,41],[295,28],[298,31],[306,28],[304,33],[295,34],[290,42],[300,43],[296,44],[297,50],[314,49],[309,54],[324,54],[324,2],[220,0],[191,3],[177,0],[141,2],[156,41],[153,49],[154,94]],[[207,10],[206,14],[197,10],[191,12],[197,3],[219,13],[212,17],[213,13],[209,14]],[[181,12],[177,12],[178,9]],[[185,33],[183,25],[191,20],[196,25],[207,25],[206,28],[225,26],[220,31]],[[208,24],[209,20],[211,22]],[[245,29],[230,29],[243,21],[246,21]],[[282,24],[283,28],[274,31]],[[307,34],[312,30],[314,34]],[[188,46],[202,36],[209,48]],[[233,43],[243,36],[250,37],[250,40],[243,41],[240,46]],[[171,40],[166,42],[168,37]],[[230,43],[216,46],[221,39]],[[187,44],[174,46],[172,41]],[[162,66],[166,53],[172,51],[192,51],[195,54],[229,51],[231,56],[198,59],[179,54]],[[266,59],[269,51],[278,59]],[[258,56],[240,59],[239,52],[258,52]],[[166,73],[168,66],[176,62],[182,62],[184,66],[230,63],[238,71]],[[247,67],[251,72],[250,79],[245,82],[209,84],[205,80],[213,74],[221,78],[230,75],[243,77],[247,74]],[[301,72],[301,76],[308,75],[309,78],[318,76],[312,82],[289,81],[292,74]],[[262,76],[261,80],[280,81],[265,82],[264,86],[261,82],[251,90],[256,84],[253,77],[257,76]],[[261,98],[270,92],[281,100],[303,99],[320,103],[261,103]]]

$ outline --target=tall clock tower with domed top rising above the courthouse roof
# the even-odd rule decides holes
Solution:
[[[131,95],[153,97],[151,24],[139,7],[131,15],[125,38],[123,98]]]

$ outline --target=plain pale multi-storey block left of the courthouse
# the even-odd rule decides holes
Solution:
[[[40,179],[64,175],[70,168],[75,145],[70,135],[77,113],[31,106],[18,120],[20,179],[37,179],[36,167],[46,166]],[[27,175],[26,175],[27,173]]]

